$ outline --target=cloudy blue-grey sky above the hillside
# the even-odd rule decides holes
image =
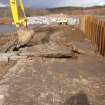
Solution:
[[[0,0],[0,6],[5,6],[5,4],[8,4],[8,1],[9,0]],[[23,2],[25,6],[33,8],[105,5],[105,0],[23,0]]]

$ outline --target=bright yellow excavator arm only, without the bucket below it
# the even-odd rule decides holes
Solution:
[[[10,2],[13,21],[14,21],[14,24],[16,25],[16,27],[19,28],[21,25],[26,27],[27,21],[26,21],[26,16],[25,16],[25,12],[24,12],[23,1],[19,0],[20,8],[21,8],[21,11],[24,15],[22,19],[19,18],[17,0],[9,0],[9,2]]]

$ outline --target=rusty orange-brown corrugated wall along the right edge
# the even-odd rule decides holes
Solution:
[[[101,55],[105,56],[105,20],[97,16],[82,16],[81,30],[95,43]]]

